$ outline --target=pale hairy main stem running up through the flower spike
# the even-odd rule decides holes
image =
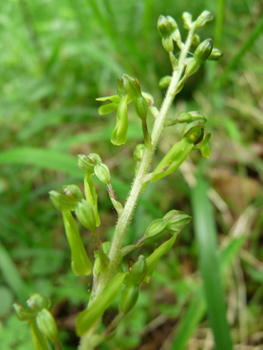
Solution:
[[[123,212],[117,222],[115,233],[111,243],[110,252],[109,252],[109,259],[110,259],[109,267],[106,273],[99,275],[98,280],[96,280],[96,292],[92,297],[92,303],[100,295],[101,291],[104,289],[106,284],[116,274],[117,267],[119,266],[122,260],[121,248],[122,248],[123,239],[125,237],[127,228],[130,225],[136,204],[138,202],[138,198],[143,189],[144,177],[145,175],[147,175],[149,171],[149,167],[152,162],[156,146],[159,142],[160,136],[164,129],[164,123],[165,123],[167,113],[171,107],[171,104],[177,94],[178,87],[181,83],[181,78],[185,69],[185,64],[184,64],[185,58],[187,57],[187,54],[190,50],[190,47],[194,38],[195,30],[196,30],[196,25],[194,22],[192,24],[191,29],[189,30],[186,43],[181,51],[181,54],[179,57],[178,69],[174,70],[173,72],[173,77],[169,85],[169,88],[167,90],[166,96],[164,98],[162,108],[155,120],[153,132],[152,132],[152,143],[150,146],[148,146],[145,149],[143,159],[141,161],[140,167],[138,169],[137,175],[132,185],[132,189],[128,196],[127,202],[124,206]],[[94,334],[95,330],[96,330],[96,327],[92,328],[92,331],[89,331],[87,334],[85,334],[81,338],[81,344],[80,344],[79,350],[93,349],[90,345],[89,339],[92,336],[92,334]]]

